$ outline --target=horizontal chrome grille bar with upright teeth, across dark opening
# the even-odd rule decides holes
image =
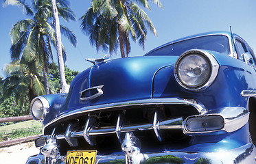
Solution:
[[[123,124],[121,123],[123,122],[123,119],[121,118],[121,115],[119,115],[117,119],[117,126],[95,127],[93,126],[94,122],[95,120],[93,120],[93,117],[89,116],[84,126],[84,131],[71,131],[71,128],[70,128],[71,125],[69,124],[68,130],[67,130],[69,137],[67,137],[67,132],[66,132],[66,135],[57,135],[56,139],[66,139],[70,146],[74,146],[75,144],[72,144],[71,142],[74,138],[84,137],[84,139],[86,139],[86,141],[90,145],[95,145],[95,141],[93,138],[96,135],[116,134],[117,139],[121,141],[120,134],[126,133],[126,132],[149,131],[154,129],[156,129],[156,131],[158,132],[164,129],[183,129],[183,118],[174,118],[174,119],[163,120],[163,121],[159,121],[158,118],[155,118],[152,124],[137,124],[137,125],[131,125],[131,126],[121,126]],[[163,141],[159,133],[156,133],[156,137],[159,139],[159,141]]]

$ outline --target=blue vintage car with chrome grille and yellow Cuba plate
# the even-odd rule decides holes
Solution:
[[[88,60],[68,94],[32,100],[43,136],[27,164],[256,163],[256,58],[240,36]]]

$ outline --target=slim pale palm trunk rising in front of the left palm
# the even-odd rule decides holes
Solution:
[[[67,85],[66,78],[65,78],[65,68],[64,68],[64,60],[62,57],[62,43],[61,43],[61,36],[60,36],[60,20],[58,18],[58,9],[56,6],[56,0],[51,0],[52,11],[54,14],[54,23],[56,29],[56,49],[58,55],[58,68],[60,73],[60,85],[62,93],[69,92],[69,86]]]

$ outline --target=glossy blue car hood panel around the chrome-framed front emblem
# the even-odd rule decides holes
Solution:
[[[65,105],[61,111],[71,111],[90,105],[152,98],[154,76],[158,70],[175,64],[178,56],[128,57],[113,59],[84,70],[73,79]],[[82,92],[87,96],[103,94],[89,100],[81,100]]]

